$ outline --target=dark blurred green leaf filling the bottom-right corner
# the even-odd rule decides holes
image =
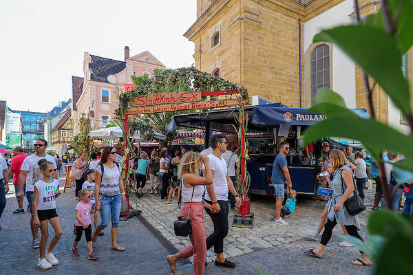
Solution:
[[[386,223],[383,220],[383,223]],[[410,232],[410,236],[412,232]],[[412,274],[412,238],[399,232],[392,236],[383,246],[379,258],[374,262],[375,275]]]

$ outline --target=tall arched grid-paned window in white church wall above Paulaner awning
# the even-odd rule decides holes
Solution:
[[[317,89],[330,88],[330,47],[326,44],[317,46],[310,56],[311,104]]]

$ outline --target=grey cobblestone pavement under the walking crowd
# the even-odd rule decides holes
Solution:
[[[11,214],[17,207],[11,190],[0,221],[3,226],[0,230],[0,274],[170,274],[165,256],[187,245],[189,239],[173,234],[173,220],[179,213],[176,199],[167,205],[160,202],[157,195],[148,194],[148,191],[144,190],[145,196],[141,199],[134,197],[130,201],[131,206],[143,211],[142,214],[138,218],[120,222],[118,242],[125,246],[125,252],[110,250],[108,227],[105,229],[105,236],[98,237],[98,245],[94,251],[99,255],[99,259],[93,262],[87,260],[84,236],[78,245],[81,256],[75,258],[70,254],[74,240],[72,228],[76,200],[74,188],[66,190],[56,200],[63,236],[56,245],[54,254],[60,263],[50,270],[39,270],[36,267],[39,251],[30,246],[30,215],[27,212]],[[368,193],[368,196],[371,197],[371,194]],[[253,268],[268,275],[370,273],[371,267],[356,267],[350,264],[350,260],[358,258],[357,250],[337,245],[341,241],[337,236],[341,232],[339,227],[335,229],[325,250],[324,259],[316,259],[304,252],[305,248],[317,245],[317,242],[306,239],[306,234],[317,227],[324,201],[299,198],[296,212],[288,218],[290,225],[282,227],[273,225],[269,220],[273,214],[273,199],[252,197],[251,201],[251,211],[255,212],[253,229],[230,227],[229,236],[225,240],[224,255],[237,263],[237,267],[229,270],[210,263],[204,274],[256,274]],[[26,206],[27,202],[24,204]],[[370,210],[365,212],[366,214],[361,215],[363,227]],[[232,217],[231,213],[230,222]],[[207,214],[205,221],[209,234],[213,227]],[[52,230],[50,235],[53,235]],[[361,235],[365,238],[366,231],[362,230]],[[213,259],[215,256],[209,250],[208,261]],[[181,261],[177,270],[177,274],[192,274],[192,264],[190,261]]]

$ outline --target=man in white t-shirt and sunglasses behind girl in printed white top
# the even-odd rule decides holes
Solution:
[[[51,155],[46,154],[47,148],[47,141],[39,138],[34,142],[34,154],[29,155],[23,160],[23,164],[21,164],[21,173],[19,176],[19,192],[17,193],[17,199],[23,199],[23,185],[26,183],[26,197],[28,198],[30,212],[32,213],[32,217],[30,218],[30,228],[32,229],[33,241],[32,241],[32,248],[39,248],[40,241],[39,241],[39,228],[33,225],[33,190],[34,184],[39,181],[43,175],[40,173],[39,170],[39,162],[40,159],[47,159],[49,162],[52,162],[54,168],[56,169],[56,162],[54,161],[54,157]],[[54,179],[57,179],[57,173],[53,175]]]

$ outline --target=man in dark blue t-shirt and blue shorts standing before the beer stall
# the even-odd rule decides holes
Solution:
[[[287,168],[286,155],[290,151],[290,144],[288,142],[282,142],[280,145],[280,151],[274,159],[273,173],[271,175],[271,183],[275,189],[275,221],[277,225],[288,225],[281,217],[281,208],[284,201],[284,186],[287,184],[289,188],[293,187],[291,183],[290,173]]]

